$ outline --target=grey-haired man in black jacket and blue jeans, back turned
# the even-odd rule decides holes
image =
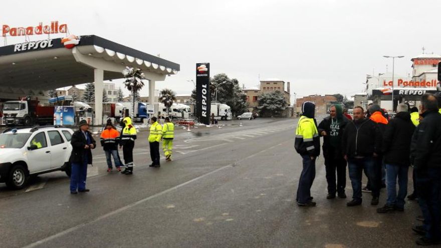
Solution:
[[[404,210],[404,198],[407,194],[407,173],[410,166],[410,140],[415,126],[410,120],[407,105],[400,103],[396,116],[387,124],[383,135],[382,152],[386,165],[387,201],[378,213]],[[398,195],[396,194],[396,178],[398,177]]]

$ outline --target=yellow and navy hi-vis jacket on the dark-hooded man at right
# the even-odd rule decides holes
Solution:
[[[300,155],[320,155],[320,136],[314,119],[306,116],[300,117],[294,147]]]

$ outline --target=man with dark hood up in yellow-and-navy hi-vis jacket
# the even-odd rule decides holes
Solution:
[[[303,115],[297,123],[294,144],[297,153],[303,159],[303,170],[300,174],[296,201],[299,206],[315,206],[316,203],[312,201],[311,197],[311,186],[315,178],[315,161],[320,155],[320,137],[317,122],[314,119],[315,104],[304,102],[302,113]]]

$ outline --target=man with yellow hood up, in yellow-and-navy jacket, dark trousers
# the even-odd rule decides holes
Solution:
[[[122,122],[124,123],[124,128],[119,139],[119,147],[122,146],[124,163],[127,167],[121,173],[131,175],[133,174],[133,147],[135,147],[136,128],[132,126],[132,119],[130,117],[124,118]]]

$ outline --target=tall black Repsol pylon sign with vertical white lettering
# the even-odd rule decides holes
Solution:
[[[210,124],[210,63],[196,64],[196,117]]]

